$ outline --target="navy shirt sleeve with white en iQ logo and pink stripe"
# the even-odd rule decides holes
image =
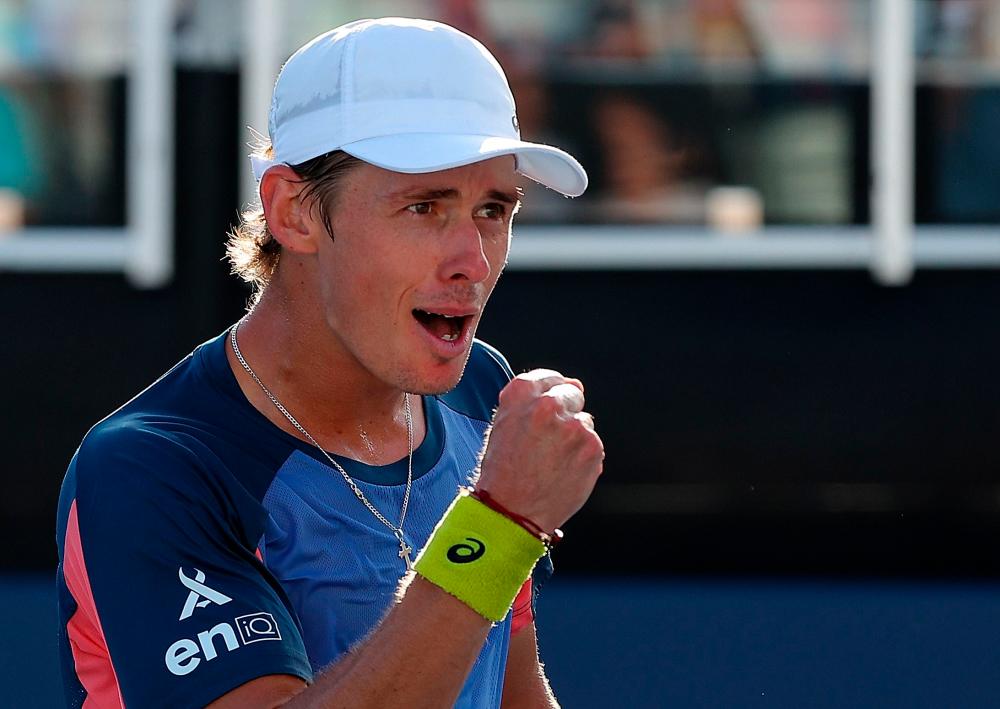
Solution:
[[[266,513],[197,442],[92,432],[70,478],[64,633],[96,704],[201,707],[265,675],[311,680],[298,621],[255,555]]]

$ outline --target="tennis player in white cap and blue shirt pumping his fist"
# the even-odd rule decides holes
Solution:
[[[421,20],[299,49],[269,134],[229,249],[254,306],[70,463],[68,705],[557,706],[533,597],[603,446],[579,381],[474,335],[519,180],[585,172]]]

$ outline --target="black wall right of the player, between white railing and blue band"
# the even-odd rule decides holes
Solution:
[[[1000,278],[511,273],[482,327],[581,377],[608,451],[570,568],[996,574]]]

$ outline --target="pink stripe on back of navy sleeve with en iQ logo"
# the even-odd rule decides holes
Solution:
[[[121,688],[108,644],[104,639],[101,619],[97,615],[97,605],[87,576],[87,565],[83,558],[80,541],[80,522],[76,512],[76,500],[69,508],[66,524],[66,540],[63,554],[63,577],[66,587],[76,600],[76,612],[66,625],[76,675],[87,690],[84,709],[124,709]]]

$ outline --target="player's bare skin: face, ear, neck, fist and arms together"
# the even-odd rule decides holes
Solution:
[[[345,178],[331,215],[333,238],[296,180],[290,168],[277,166],[261,181],[282,256],[240,327],[240,347],[324,448],[351,454],[361,424],[381,434],[375,463],[398,460],[407,453],[404,393],[442,393],[458,383],[506,263],[517,208],[514,160],[416,175],[362,165]],[[415,310],[461,315],[461,335],[453,342],[435,337]],[[297,436],[228,354],[250,402]],[[478,484],[545,529],[564,524],[603,470],[603,444],[584,405],[576,379],[552,370],[516,377],[500,393]],[[426,424],[420,406],[413,413],[419,445]],[[312,686],[262,677],[211,706],[451,706],[489,628],[464,603],[411,573],[367,640]],[[504,704],[557,706],[533,627],[512,639]]]

